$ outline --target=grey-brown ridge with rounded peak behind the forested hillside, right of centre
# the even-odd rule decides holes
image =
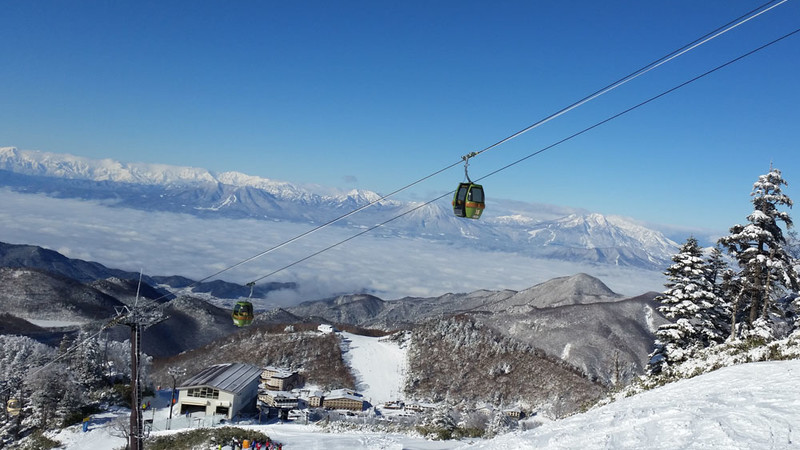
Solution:
[[[522,291],[479,290],[384,301],[352,294],[284,308],[290,317],[383,330],[415,329],[443,317],[470,317],[500,335],[536,347],[605,385],[643,373],[658,325],[666,323],[648,292],[625,297],[579,273]],[[283,316],[285,317],[285,316]],[[269,321],[267,316],[256,321]]]

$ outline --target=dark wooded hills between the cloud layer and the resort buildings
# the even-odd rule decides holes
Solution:
[[[126,279],[117,269],[35,246],[0,248],[4,330],[53,345],[78,330],[102,328],[104,339],[122,342],[129,338],[127,327],[109,326],[109,321],[123,307],[133,308],[138,301],[140,308],[163,314],[142,335],[142,351],[155,358],[154,385],[169,384],[170,368],[191,374],[213,364],[242,362],[298,370],[306,383],[324,389],[369,390],[385,376],[363,371],[378,365],[378,373],[401,373],[389,388],[397,398],[472,409],[520,408],[557,418],[642,374],[655,328],[664,322],[654,293],[625,297],[594,277],[576,274],[521,291],[396,300],[341,295],[259,310],[253,325],[237,328],[230,310],[218,306],[225,299],[210,301],[207,293],[194,296],[167,284],[138,285],[136,274]],[[91,277],[99,278],[79,281]],[[34,325],[54,318],[81,325]],[[405,348],[404,361],[383,361],[385,352],[375,350],[359,353],[352,339],[320,334],[321,324],[354,336],[391,339],[392,348]],[[355,348],[348,352],[349,347]],[[363,361],[368,355],[375,360]],[[361,373],[353,371],[354,358],[360,359]],[[384,399],[385,394],[384,389],[381,401],[393,400]]]

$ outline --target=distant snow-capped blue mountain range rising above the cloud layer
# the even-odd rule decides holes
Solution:
[[[315,225],[374,202],[337,225],[363,230],[407,213],[381,227],[381,235],[453,244],[466,241],[479,250],[647,270],[663,270],[677,249],[661,233],[629,219],[552,205],[489,199],[489,213],[480,221],[467,221],[452,215],[448,198],[421,205],[380,200],[379,194],[366,190],[324,194],[238,172],[94,160],[14,147],[0,148],[0,186],[148,211]]]

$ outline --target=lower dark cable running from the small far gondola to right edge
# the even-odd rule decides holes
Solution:
[[[695,76],[694,78],[691,78],[691,79],[689,79],[687,81],[684,81],[683,83],[680,83],[680,84],[678,84],[678,85],[676,85],[676,86],[674,86],[674,87],[672,87],[670,89],[667,89],[666,91],[663,91],[658,95],[650,97],[647,100],[644,100],[644,101],[642,101],[640,103],[637,103],[636,105],[631,106],[630,108],[627,108],[624,111],[621,111],[621,112],[619,112],[617,114],[614,114],[613,116],[610,116],[610,117],[608,117],[606,119],[603,119],[600,122],[595,123],[594,125],[586,127],[584,129],[576,132],[576,133],[571,134],[570,136],[567,136],[567,137],[565,137],[565,138],[563,138],[563,139],[561,139],[559,141],[556,141],[556,142],[554,142],[554,143],[552,143],[552,144],[550,144],[550,145],[548,145],[546,147],[543,147],[543,148],[541,148],[541,149],[539,149],[539,150],[537,150],[537,151],[535,151],[535,152],[533,152],[533,153],[531,153],[531,154],[529,154],[529,155],[527,155],[527,156],[525,156],[523,158],[520,158],[520,159],[518,159],[518,160],[516,160],[514,162],[511,162],[511,163],[509,163],[509,164],[507,164],[507,165],[505,165],[503,167],[500,167],[499,169],[496,169],[496,170],[494,170],[492,172],[489,172],[488,174],[476,179],[475,181],[481,181],[481,180],[483,180],[485,178],[488,178],[488,177],[490,177],[492,175],[495,175],[495,174],[497,174],[499,172],[502,172],[502,171],[504,171],[504,170],[506,170],[506,169],[508,169],[508,168],[510,168],[512,166],[515,166],[515,165],[517,165],[517,164],[519,164],[519,163],[521,163],[521,162],[523,162],[523,161],[525,161],[527,159],[530,159],[530,158],[532,158],[532,157],[534,157],[536,155],[539,155],[539,154],[541,154],[541,153],[543,153],[543,152],[545,152],[545,151],[547,151],[547,150],[549,150],[549,149],[551,149],[553,147],[556,147],[556,146],[558,146],[560,144],[563,144],[564,142],[572,140],[572,139],[574,139],[574,138],[576,138],[576,137],[578,137],[578,136],[580,136],[580,135],[582,135],[582,134],[584,134],[584,133],[586,133],[588,131],[591,131],[591,130],[593,130],[593,129],[601,126],[601,125],[604,125],[604,124],[606,124],[606,123],[608,123],[608,122],[610,122],[610,121],[612,121],[612,120],[614,120],[616,118],[619,118],[620,116],[623,116],[623,115],[625,115],[625,114],[627,114],[627,113],[629,113],[631,111],[639,109],[642,106],[647,105],[650,102],[653,102],[653,101],[655,101],[655,100],[657,100],[657,99],[659,99],[661,97],[664,97],[665,95],[668,95],[668,94],[670,94],[672,92],[675,92],[675,91],[677,91],[678,89],[680,89],[682,87],[685,87],[685,86],[687,86],[687,85],[689,85],[691,83],[694,83],[695,81],[700,80],[701,78],[704,78],[704,77],[706,77],[708,75],[711,75],[712,73],[714,73],[714,72],[716,72],[716,71],[718,71],[720,69],[723,69],[723,68],[725,68],[725,67],[727,67],[727,66],[729,66],[729,65],[731,65],[731,64],[733,64],[733,63],[735,63],[737,61],[740,61],[740,60],[742,60],[742,59],[744,59],[744,58],[746,58],[746,57],[748,57],[748,56],[750,56],[750,55],[752,55],[752,54],[754,54],[754,53],[756,53],[758,51],[761,51],[761,50],[763,50],[763,49],[765,49],[765,48],[767,48],[767,47],[769,47],[769,46],[771,46],[771,45],[773,45],[773,44],[775,44],[777,42],[780,42],[780,41],[782,41],[782,40],[784,40],[784,39],[786,39],[786,38],[788,38],[788,37],[790,37],[790,36],[792,36],[794,34],[797,34],[797,33],[800,33],[800,28],[798,28],[798,29],[796,29],[796,30],[794,30],[792,32],[789,32],[789,33],[787,33],[787,34],[785,34],[785,35],[783,35],[783,36],[781,36],[781,37],[779,37],[779,38],[777,38],[775,40],[772,40],[772,41],[770,41],[770,42],[768,42],[768,43],[766,43],[766,44],[764,44],[764,45],[762,45],[762,46],[760,46],[760,47],[758,47],[758,48],[756,48],[754,50],[751,50],[751,51],[749,51],[747,53],[744,53],[744,54],[742,54],[742,55],[740,55],[740,56],[738,56],[738,57],[736,57],[734,59],[731,59],[726,63],[720,64],[720,65],[714,67],[711,70],[708,70],[708,71],[706,71],[706,72],[704,72],[704,73],[702,73],[700,75]],[[412,213],[414,211],[417,211],[417,210],[419,210],[419,209],[421,209],[421,208],[423,208],[425,206],[428,206],[433,202],[436,202],[436,201],[441,200],[441,199],[443,199],[445,197],[448,197],[448,196],[452,196],[453,192],[454,191],[449,191],[449,192],[447,192],[447,193],[445,193],[443,195],[440,195],[440,196],[438,196],[438,197],[436,197],[436,198],[434,198],[432,200],[429,200],[429,201],[427,201],[425,203],[417,205],[414,208],[411,208],[411,209],[409,209],[407,211],[404,211],[403,213],[400,213],[400,214],[398,214],[398,215],[396,215],[396,216],[394,216],[394,217],[392,217],[392,218],[390,218],[390,219],[388,219],[388,220],[386,220],[384,222],[381,222],[381,223],[379,223],[377,225],[374,225],[374,226],[372,226],[370,228],[367,228],[367,229],[365,229],[363,231],[360,231],[360,232],[354,234],[353,236],[348,237],[347,239],[343,239],[343,240],[341,240],[341,241],[339,241],[339,242],[337,242],[335,244],[331,244],[331,245],[329,245],[329,246],[327,246],[327,247],[325,247],[325,248],[323,248],[321,250],[318,250],[318,251],[316,251],[316,252],[314,252],[314,253],[306,256],[306,257],[303,257],[303,258],[301,258],[299,260],[296,260],[291,264],[287,264],[287,265],[285,265],[285,266],[283,266],[283,267],[281,267],[279,269],[276,269],[276,270],[274,270],[274,271],[272,271],[272,272],[270,272],[270,273],[268,273],[268,274],[266,274],[264,276],[256,278],[255,280],[253,280],[253,282],[261,281],[261,280],[263,280],[265,278],[268,278],[268,277],[270,277],[272,275],[275,275],[275,274],[277,274],[279,272],[282,272],[282,271],[284,271],[284,270],[286,270],[286,269],[288,269],[290,267],[293,267],[293,266],[295,266],[297,264],[300,264],[300,263],[302,263],[304,261],[307,261],[307,260],[309,260],[309,259],[311,259],[311,258],[313,258],[313,257],[315,257],[315,256],[317,256],[317,255],[319,255],[321,253],[324,253],[324,252],[326,252],[328,250],[331,250],[331,249],[333,249],[335,247],[338,247],[339,245],[342,245],[342,244],[344,244],[346,242],[349,242],[349,241],[351,241],[351,240],[353,240],[353,239],[355,239],[355,238],[357,238],[359,236],[367,234],[370,231],[373,231],[373,230],[375,230],[377,228],[380,228],[380,227],[382,227],[382,226],[384,226],[384,225],[386,225],[386,224],[388,224],[390,222],[393,222],[393,221],[395,221],[395,220],[397,220],[397,219],[399,219],[401,217],[404,217],[404,216],[406,216],[406,215],[408,215],[408,214],[410,214],[410,213]]]

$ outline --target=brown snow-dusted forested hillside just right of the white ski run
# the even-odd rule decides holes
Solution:
[[[604,392],[604,386],[564,361],[467,316],[432,321],[411,333],[406,393],[412,397],[521,406],[557,418]]]

